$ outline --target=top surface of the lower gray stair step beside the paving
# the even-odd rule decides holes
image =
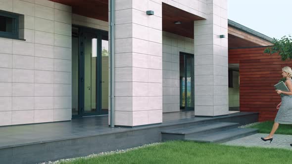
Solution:
[[[193,134],[187,136],[184,140],[195,142],[226,142],[237,138],[257,133],[255,128],[232,128],[217,132],[209,132],[205,134]]]

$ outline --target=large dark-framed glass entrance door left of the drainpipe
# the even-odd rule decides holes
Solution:
[[[108,95],[104,84],[108,76],[103,76],[108,74],[107,32],[82,27],[73,27],[72,32],[72,115],[107,115],[108,103],[103,100]]]

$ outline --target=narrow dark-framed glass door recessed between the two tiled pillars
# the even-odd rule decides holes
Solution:
[[[180,109],[194,110],[194,55],[180,52]]]

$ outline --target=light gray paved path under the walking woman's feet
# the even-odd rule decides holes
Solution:
[[[292,135],[275,134],[273,141],[262,141],[261,137],[266,137],[268,134],[256,133],[243,138],[224,142],[223,145],[245,146],[245,147],[263,147],[263,148],[280,148],[292,150]]]

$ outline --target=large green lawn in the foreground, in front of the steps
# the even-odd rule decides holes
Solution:
[[[292,164],[291,150],[171,141],[61,164]]]

